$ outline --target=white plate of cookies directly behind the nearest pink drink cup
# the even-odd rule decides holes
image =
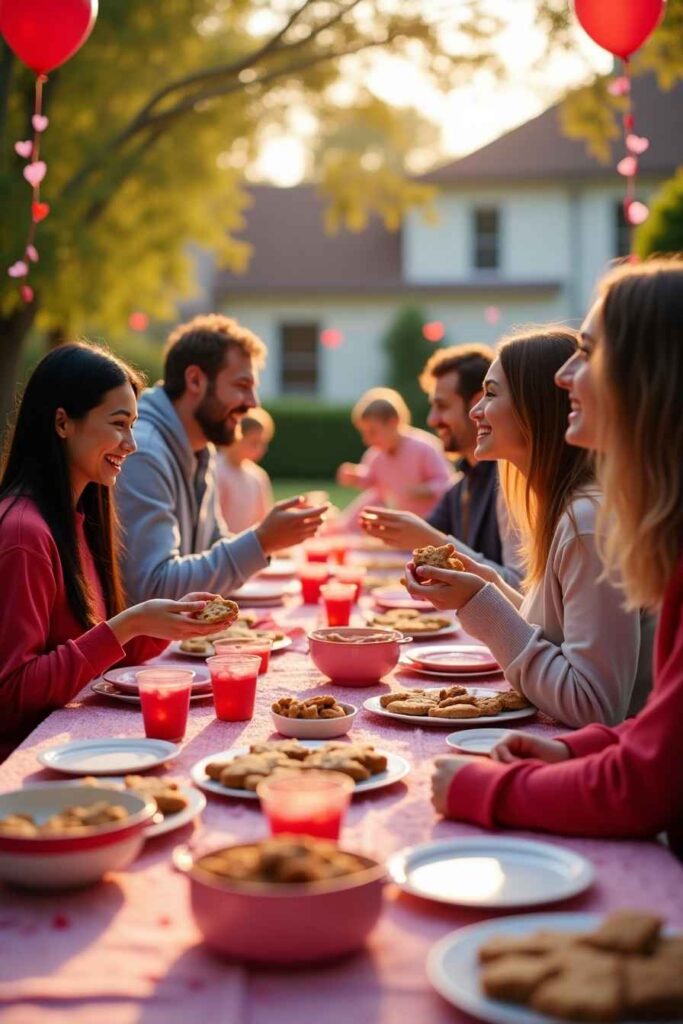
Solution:
[[[355,794],[393,785],[411,770],[405,758],[372,743],[346,740],[283,739],[236,746],[203,758],[193,766],[193,782],[219,797],[258,800],[256,786],[273,772],[308,768],[340,771],[355,782]]]

